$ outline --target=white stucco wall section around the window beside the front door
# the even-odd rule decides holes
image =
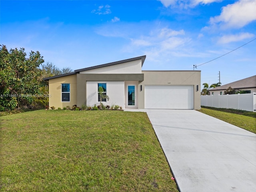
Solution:
[[[124,108],[124,81],[86,81],[86,105],[97,106],[98,102],[98,83],[106,83],[107,95],[110,100],[102,102],[104,105],[119,105]]]

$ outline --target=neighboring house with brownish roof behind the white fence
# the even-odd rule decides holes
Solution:
[[[209,92],[211,95],[224,95],[225,90],[229,87],[233,88],[235,92],[242,90],[244,90],[246,93],[256,92],[256,75],[209,89]]]

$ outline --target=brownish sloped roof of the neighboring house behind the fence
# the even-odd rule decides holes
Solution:
[[[232,83],[228,83],[226,85],[222,85],[210,90],[226,90],[229,87],[232,87],[233,89],[256,88],[256,75]]]

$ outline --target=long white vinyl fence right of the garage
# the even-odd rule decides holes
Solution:
[[[256,112],[256,93],[232,95],[202,95],[201,106],[240,109]]]

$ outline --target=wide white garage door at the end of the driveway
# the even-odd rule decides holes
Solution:
[[[192,85],[145,85],[146,109],[193,109]]]

